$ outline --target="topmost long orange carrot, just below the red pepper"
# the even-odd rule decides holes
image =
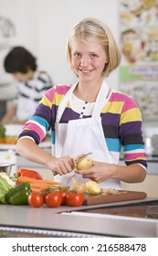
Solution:
[[[45,185],[61,185],[62,184],[55,180],[49,180],[49,179],[37,180],[37,178],[31,178],[27,176],[19,176],[17,180],[19,183],[37,183],[37,184],[45,184]]]

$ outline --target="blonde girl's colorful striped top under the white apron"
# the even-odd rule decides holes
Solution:
[[[60,101],[69,90],[68,85],[56,85],[48,90],[39,102],[37,111],[26,122],[19,137],[30,136],[39,144],[51,129],[52,144],[55,144],[55,123]],[[82,118],[90,118],[84,115]],[[109,101],[100,112],[102,129],[111,155],[123,153],[126,165],[140,164],[147,167],[145,147],[142,139],[142,115],[132,97],[120,91],[111,91]],[[60,123],[80,118],[68,101]]]

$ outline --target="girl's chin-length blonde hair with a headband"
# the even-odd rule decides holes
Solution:
[[[77,37],[91,43],[100,44],[105,49],[108,63],[105,63],[102,72],[103,77],[108,77],[110,72],[120,65],[121,53],[111,34],[110,28],[95,18],[85,18],[81,20],[79,24],[72,27],[68,35],[67,61],[71,69],[73,69],[71,67],[71,45],[73,40],[76,40]]]

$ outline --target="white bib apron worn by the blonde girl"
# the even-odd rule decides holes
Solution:
[[[55,152],[52,155],[61,157],[63,155],[70,155],[76,157],[77,155],[87,154],[92,152],[90,155],[94,161],[118,164],[114,162],[111,157],[105,137],[102,130],[100,112],[105,106],[108,99],[106,96],[109,91],[109,87],[105,81],[103,81],[97,100],[94,105],[91,118],[83,118],[78,120],[72,120],[68,123],[59,123],[61,116],[67,106],[67,103],[73,93],[77,83],[75,83],[67,92],[63,100],[60,102],[58,107],[57,119],[55,124],[56,131],[56,142]],[[64,176],[55,176],[57,181],[64,183],[66,186],[71,184],[71,176],[74,175],[74,171]],[[90,179],[82,178],[81,175],[75,176],[78,182],[87,182]],[[102,188],[116,188],[121,189],[121,183],[119,180],[108,179],[100,183]]]

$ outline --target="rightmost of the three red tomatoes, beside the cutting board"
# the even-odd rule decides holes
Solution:
[[[79,207],[83,204],[84,196],[81,193],[68,192],[66,196],[66,203],[70,207]]]

